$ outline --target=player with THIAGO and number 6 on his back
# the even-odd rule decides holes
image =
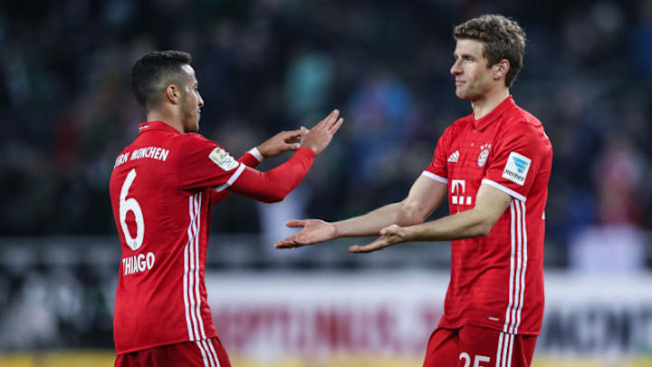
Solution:
[[[155,52],[132,68],[133,92],[147,122],[110,177],[122,248],[116,366],[230,366],[206,303],[211,207],[229,192],[283,200],[342,124],[339,111],[332,111],[312,130],[283,131],[234,159],[196,133],[204,101],[190,61],[188,53]],[[254,169],[287,150],[296,152],[282,165]]]

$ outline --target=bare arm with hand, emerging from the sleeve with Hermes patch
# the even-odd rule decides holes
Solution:
[[[349,251],[367,253],[408,241],[447,241],[486,236],[511,201],[512,197],[503,191],[482,185],[473,209],[416,226],[385,227],[380,230],[381,237],[376,241],[366,246],[351,246]]]

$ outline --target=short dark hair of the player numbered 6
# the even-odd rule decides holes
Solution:
[[[190,64],[192,56],[183,51],[155,51],[141,57],[131,68],[131,90],[140,105],[149,109],[161,101],[161,88],[177,82],[181,66]]]

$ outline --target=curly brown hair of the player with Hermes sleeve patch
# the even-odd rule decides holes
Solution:
[[[505,75],[505,86],[512,86],[523,67],[525,53],[525,32],[518,23],[503,15],[485,14],[457,25],[453,36],[456,40],[470,38],[483,42],[488,67],[506,59],[510,70]]]

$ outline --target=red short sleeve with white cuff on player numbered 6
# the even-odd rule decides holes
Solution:
[[[186,134],[179,146],[177,179],[179,187],[193,190],[232,185],[245,169],[228,151],[199,134]]]

